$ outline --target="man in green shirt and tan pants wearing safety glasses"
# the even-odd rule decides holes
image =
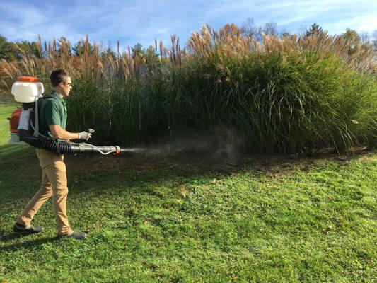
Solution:
[[[88,140],[91,137],[88,132],[72,133],[66,131],[66,102],[63,98],[68,97],[71,91],[71,77],[66,71],[59,69],[52,71],[50,81],[52,83],[52,91],[42,98],[38,108],[40,134],[67,142],[70,139]],[[30,221],[32,221],[42,204],[52,197],[58,238],[85,238],[86,233],[76,232],[71,229],[66,216],[68,187],[66,186],[64,156],[43,149],[36,149],[36,152],[42,168],[42,186],[18,216],[18,220],[13,226],[13,231],[21,234],[42,232],[44,230],[43,227],[31,226]]]

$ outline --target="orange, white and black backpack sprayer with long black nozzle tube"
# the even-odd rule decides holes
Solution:
[[[45,89],[40,79],[33,76],[20,76],[13,83],[12,94],[17,102],[22,103],[9,120],[11,139],[8,144],[29,144],[37,149],[46,149],[57,154],[78,154],[99,152],[100,154],[120,154],[120,146],[93,146],[86,143],[66,143],[46,137],[39,132],[38,106],[43,100]],[[93,133],[93,129],[88,129]]]

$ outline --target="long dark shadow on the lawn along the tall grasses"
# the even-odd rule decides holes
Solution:
[[[357,157],[354,156],[354,157]],[[122,156],[66,156],[70,195],[95,199],[103,194],[124,192],[150,194],[149,185],[170,180],[185,181],[198,176],[227,176],[245,171],[253,175],[276,175],[299,168],[318,167],[322,161],[347,163],[350,156],[337,154],[306,156],[250,156],[229,158],[211,153],[185,152],[175,155],[127,154]],[[0,199],[13,205],[21,198],[30,199],[40,186],[40,166],[31,146],[0,146]],[[27,200],[25,200],[26,202]]]

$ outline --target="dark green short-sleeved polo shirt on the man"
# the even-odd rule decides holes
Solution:
[[[40,134],[54,138],[48,125],[60,125],[62,129],[66,129],[66,102],[59,93],[52,91],[41,98],[38,110]]]

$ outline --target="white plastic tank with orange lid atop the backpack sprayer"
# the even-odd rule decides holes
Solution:
[[[22,103],[35,102],[44,92],[40,79],[33,76],[19,76],[12,86],[14,100]]]

